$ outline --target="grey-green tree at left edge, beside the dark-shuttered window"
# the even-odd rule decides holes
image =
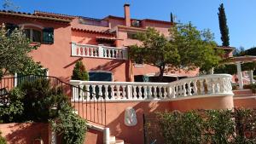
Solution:
[[[43,74],[43,66],[34,62],[29,53],[36,46],[32,46],[22,30],[6,30],[5,26],[0,27],[0,72],[1,76],[21,74]]]

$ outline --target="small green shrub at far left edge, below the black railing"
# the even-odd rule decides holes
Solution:
[[[0,106],[0,122],[10,123],[19,122],[24,112],[24,99],[25,93],[19,88],[15,88],[9,91],[9,104],[3,104]]]

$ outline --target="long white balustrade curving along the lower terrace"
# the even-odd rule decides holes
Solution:
[[[99,100],[101,96],[107,101],[168,101],[195,95],[233,95],[229,74],[183,78],[172,83],[71,80],[70,84],[77,86],[73,88],[73,101]]]

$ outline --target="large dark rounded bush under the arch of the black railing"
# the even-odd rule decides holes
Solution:
[[[20,89],[26,93],[23,100],[26,120],[47,122],[57,116],[56,109],[60,109],[61,104],[67,101],[61,89],[50,87],[48,79],[38,78],[26,82],[20,85]]]

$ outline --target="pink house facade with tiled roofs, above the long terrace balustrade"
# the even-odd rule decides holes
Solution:
[[[130,5],[125,4],[125,16],[108,15],[98,20],[83,16],[52,14],[35,11],[34,14],[1,11],[0,23],[10,29],[24,29],[32,43],[39,45],[32,58],[49,70],[50,76],[68,81],[73,67],[82,60],[90,72],[90,80],[143,81],[144,76],[156,77],[158,67],[131,62],[129,46],[141,44],[134,35],[154,27],[168,37],[173,24],[169,21],[132,19]],[[169,80],[193,77],[191,72],[166,73]]]

